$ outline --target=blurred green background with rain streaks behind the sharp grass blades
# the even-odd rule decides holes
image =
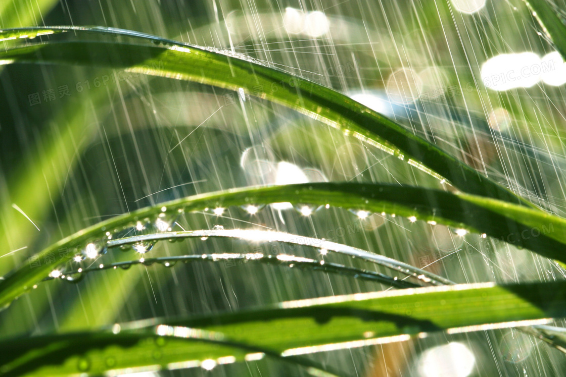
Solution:
[[[462,11],[469,6],[477,10]],[[555,6],[564,9],[561,0]],[[6,0],[0,5],[2,29],[29,25],[131,29],[248,55],[349,94],[521,196],[564,214],[564,86],[538,83],[498,91],[488,88],[481,74],[482,64],[499,54],[542,57],[554,51],[519,0]],[[2,43],[8,47],[12,42]],[[561,69],[556,67],[556,75]],[[441,187],[378,149],[267,101],[131,73],[115,81],[110,79],[114,73],[89,67],[3,67],[0,275],[109,216],[191,194],[303,181]],[[317,235],[426,266],[458,283],[551,280],[558,274],[543,258],[503,242],[380,214],[359,219],[347,209],[303,216],[275,206],[254,215],[230,208],[223,217],[186,214],[175,225],[215,226]],[[273,254],[317,253],[275,244],[191,240],[159,242],[151,255],[258,248]],[[132,258],[131,250],[112,252],[100,262]],[[345,257],[327,258],[376,268]],[[343,276],[251,263],[134,266],[91,273],[78,284],[38,285],[0,313],[0,333],[38,335],[379,289],[384,287]],[[441,348],[454,344],[466,351]],[[431,335],[311,357],[361,376],[560,376],[566,367],[563,354],[512,330]],[[458,371],[426,367],[448,365],[450,357]],[[284,376],[305,371],[267,358],[212,371],[146,374]]]

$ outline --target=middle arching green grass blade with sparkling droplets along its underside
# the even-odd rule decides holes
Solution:
[[[468,194],[402,185],[359,183],[312,183],[233,189],[182,198],[105,220],[66,237],[38,255],[43,260],[50,253],[67,250],[71,252],[63,259],[67,261],[74,256],[74,252],[78,253],[84,249],[88,242],[106,244],[107,231],[114,233],[135,227],[136,221],[145,218],[155,221],[162,207],[166,207],[166,214],[178,215],[182,211],[202,211],[216,206],[288,201],[317,206],[329,204],[408,218],[415,216],[419,220],[486,233],[488,236],[533,250],[544,257],[566,262],[566,220],[558,216]],[[31,289],[33,284],[48,276],[58,264],[61,262],[44,263],[35,268],[25,264],[7,275],[6,280],[0,283],[0,305],[10,304],[14,298]]]

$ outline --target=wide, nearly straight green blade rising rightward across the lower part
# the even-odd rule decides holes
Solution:
[[[126,324],[116,335],[85,332],[8,339],[0,343],[0,370],[10,376],[46,376],[74,374],[88,366],[90,374],[102,374],[127,367],[166,368],[188,360],[243,358],[241,349],[208,346],[197,343],[198,338],[297,357],[408,340],[424,332],[544,324],[549,318],[565,316],[564,281],[411,288],[290,301],[268,309],[167,322],[153,319]],[[159,357],[152,357],[156,352]]]

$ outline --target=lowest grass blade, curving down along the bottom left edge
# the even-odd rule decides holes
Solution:
[[[119,335],[109,331],[75,332],[34,337],[33,345],[29,344],[29,339],[14,339],[10,351],[6,344],[0,343],[6,356],[0,357],[0,372],[6,377],[66,376],[85,372],[90,375],[106,372],[115,376],[136,371],[204,367],[207,360],[222,365],[250,357],[257,360],[271,356],[306,367],[312,375],[352,376],[304,357],[284,358],[268,349],[225,341],[218,333],[196,330],[191,335],[162,336],[155,330],[125,331]]]

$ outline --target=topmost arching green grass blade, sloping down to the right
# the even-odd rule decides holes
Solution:
[[[52,32],[119,34],[169,46],[118,42],[53,42],[0,51],[4,64],[13,62],[84,64],[173,77],[219,86],[266,98],[341,129],[411,166],[452,184],[462,192],[534,205],[491,181],[401,125],[353,99],[301,77],[258,64],[240,55],[182,44],[148,34],[105,28],[54,27]],[[27,33],[8,30],[2,35]]]

